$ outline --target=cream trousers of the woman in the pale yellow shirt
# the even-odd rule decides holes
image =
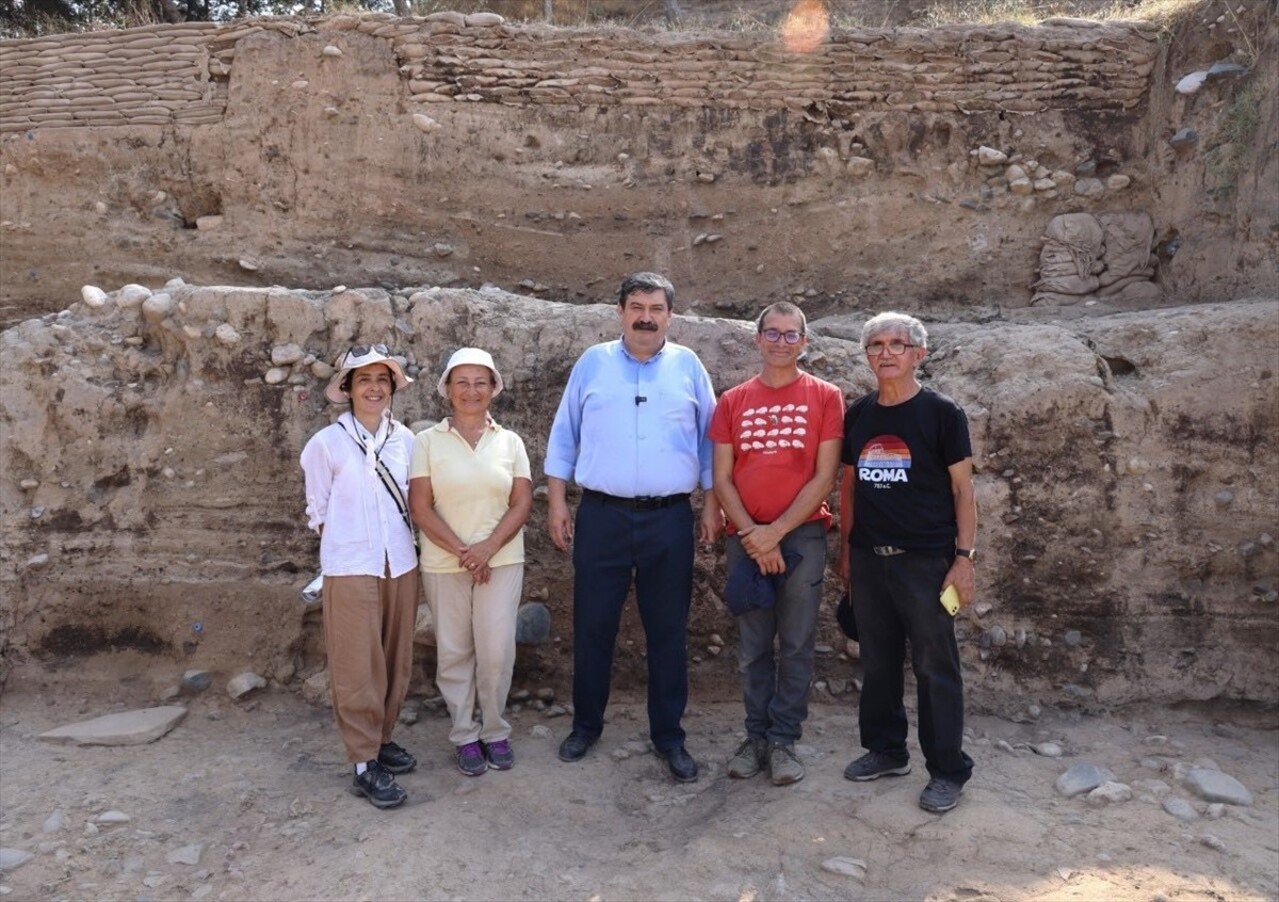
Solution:
[[[501,714],[515,669],[515,610],[524,566],[494,567],[483,586],[469,573],[422,573],[422,585],[435,623],[435,683],[453,716],[449,741],[462,746],[508,738],[510,724]]]

